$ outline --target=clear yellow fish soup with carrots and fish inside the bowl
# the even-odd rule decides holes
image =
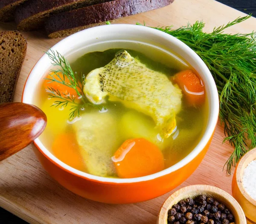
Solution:
[[[41,142],[67,165],[101,177],[141,177],[179,162],[200,141],[204,85],[177,55],[122,42],[62,60],[41,81],[35,104],[48,119]]]

